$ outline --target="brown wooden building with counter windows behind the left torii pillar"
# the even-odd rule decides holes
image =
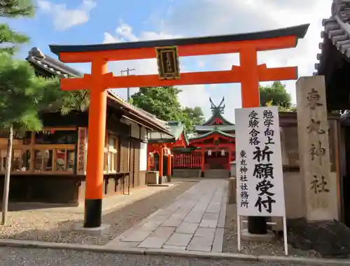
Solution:
[[[81,73],[37,48],[27,57],[38,75],[78,77]],[[10,200],[78,204],[85,196],[88,138],[87,112],[42,113],[42,132],[27,132],[13,143]],[[146,185],[148,130],[169,129],[148,113],[109,92],[107,99],[104,195],[129,193]],[[0,138],[0,186],[6,163],[7,138]]]

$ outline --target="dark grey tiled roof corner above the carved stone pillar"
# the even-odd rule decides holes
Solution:
[[[324,31],[321,32],[321,38],[323,42],[319,44],[319,48],[322,50],[317,55],[318,63],[315,64],[316,72],[318,73],[325,64],[325,52],[323,49],[327,45],[328,41],[331,41],[332,45],[341,52],[344,57],[350,59],[350,0],[333,0],[332,2],[332,15],[328,19],[322,21]]]

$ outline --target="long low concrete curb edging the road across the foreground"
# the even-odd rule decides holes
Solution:
[[[90,251],[104,253],[123,253],[133,255],[169,255],[174,257],[186,258],[209,258],[214,260],[246,260],[261,262],[297,262],[303,265],[350,265],[350,260],[341,259],[323,259],[323,258],[300,258],[291,256],[272,256],[272,255],[246,255],[241,253],[216,253],[202,251],[177,251],[166,250],[162,248],[123,248],[87,244],[68,244],[54,243],[44,241],[0,239],[0,246],[14,248],[51,248],[51,249],[71,249],[74,251]]]

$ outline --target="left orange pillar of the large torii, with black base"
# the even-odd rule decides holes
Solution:
[[[107,62],[92,62],[92,87],[90,90],[89,125],[87,140],[87,169],[85,187],[84,227],[97,228],[102,223],[104,196],[104,144],[106,134],[107,91],[104,87]]]

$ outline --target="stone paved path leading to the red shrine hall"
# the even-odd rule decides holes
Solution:
[[[204,179],[109,246],[223,251],[226,179]]]

